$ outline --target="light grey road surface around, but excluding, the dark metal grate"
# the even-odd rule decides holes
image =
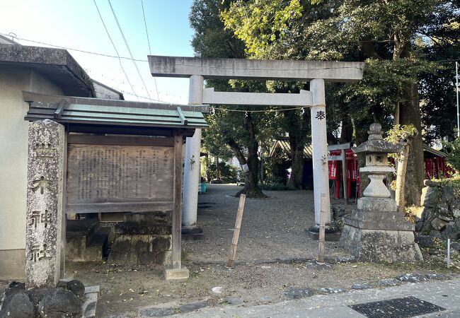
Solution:
[[[209,307],[173,317],[366,317],[348,306],[407,296],[413,296],[446,309],[419,317],[460,317],[460,278],[449,281],[405,283],[384,289],[353,290],[334,295],[314,295],[310,298],[288,300],[271,305]],[[386,317],[389,318],[389,316]]]

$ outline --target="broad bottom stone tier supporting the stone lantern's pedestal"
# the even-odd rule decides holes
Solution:
[[[357,261],[418,261],[423,259],[408,230],[366,230],[345,224],[340,247]]]

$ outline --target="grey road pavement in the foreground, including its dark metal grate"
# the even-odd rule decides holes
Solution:
[[[392,301],[388,301],[392,300]],[[378,302],[378,303],[375,303]],[[353,308],[355,309],[353,309]],[[364,312],[364,314],[358,311]],[[429,312],[430,313],[423,313]],[[421,314],[420,314],[421,312]],[[173,317],[460,317],[460,278],[314,295],[251,307],[208,307]]]

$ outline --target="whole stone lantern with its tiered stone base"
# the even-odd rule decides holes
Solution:
[[[388,165],[388,153],[401,151],[382,138],[380,124],[370,126],[369,140],[356,148],[355,153],[366,155],[366,167],[371,182],[364,189],[362,198],[350,218],[345,217],[340,247],[347,249],[358,261],[416,261],[422,259],[414,242],[414,225],[398,211],[391,199],[384,177],[393,172]]]

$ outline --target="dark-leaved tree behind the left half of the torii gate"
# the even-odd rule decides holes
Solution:
[[[199,57],[226,57],[243,58],[244,45],[234,37],[233,32],[224,29],[220,20],[221,10],[229,7],[230,1],[222,0],[195,0],[190,11],[190,25],[195,30],[192,47]],[[266,90],[261,83],[249,81],[207,80],[208,87],[220,91],[260,91]],[[245,171],[245,186],[236,194],[246,194],[248,197],[263,197],[258,183],[260,161],[258,158],[258,131],[263,125],[264,114],[245,112],[251,107],[226,107],[219,105],[212,107],[209,116],[214,117],[215,125],[209,133],[225,142],[238,158]],[[260,108],[259,108],[260,110]],[[205,142],[210,139],[205,139]],[[211,146],[209,148],[212,148]]]

